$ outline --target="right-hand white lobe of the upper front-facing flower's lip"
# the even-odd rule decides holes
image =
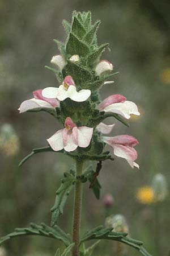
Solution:
[[[88,97],[90,97],[90,94],[90,90],[80,90],[79,92],[76,92],[76,87],[73,85],[70,85],[69,89],[67,90],[67,97],[77,102],[86,101]]]

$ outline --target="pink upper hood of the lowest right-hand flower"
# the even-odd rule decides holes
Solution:
[[[118,135],[115,137],[110,137],[110,143],[112,144],[121,144],[129,147],[134,147],[139,144],[137,139],[130,135]]]

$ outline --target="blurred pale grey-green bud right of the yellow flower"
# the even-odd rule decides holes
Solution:
[[[163,174],[156,174],[152,180],[152,189],[156,201],[163,201],[168,194],[167,180]]]

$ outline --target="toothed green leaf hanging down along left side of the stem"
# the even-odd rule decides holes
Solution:
[[[71,174],[67,174],[65,178],[61,180],[61,185],[56,191],[56,201],[51,209],[52,221],[51,225],[54,226],[61,214],[63,214],[63,207],[66,203],[67,197],[73,189],[75,177]]]

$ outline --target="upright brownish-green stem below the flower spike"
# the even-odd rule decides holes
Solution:
[[[76,160],[76,176],[82,175],[83,161]],[[82,182],[77,180],[74,191],[74,212],[73,212],[73,256],[79,256],[80,221],[82,210]]]

